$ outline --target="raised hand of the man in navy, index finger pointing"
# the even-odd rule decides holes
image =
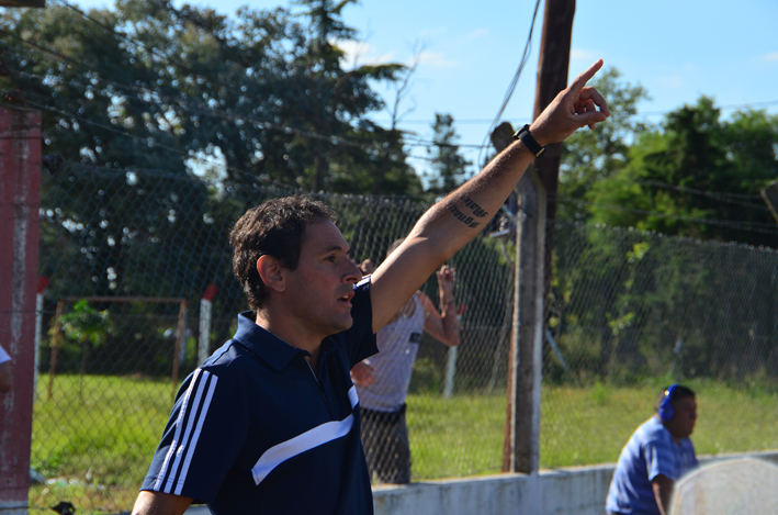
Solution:
[[[586,86],[601,67],[602,59],[589,66],[566,89],[560,91],[532,122],[530,134],[539,144],[563,142],[578,128],[586,125],[595,128],[596,124],[610,116],[608,103],[602,96],[595,88]]]

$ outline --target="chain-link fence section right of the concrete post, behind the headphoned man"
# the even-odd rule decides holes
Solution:
[[[673,382],[698,392],[698,454],[778,448],[778,253],[560,223],[541,462],[616,461]]]

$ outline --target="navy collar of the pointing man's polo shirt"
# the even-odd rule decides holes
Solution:
[[[264,327],[257,325],[255,316],[256,313],[252,311],[238,315],[238,331],[233,339],[240,342],[273,369],[279,371],[284,369],[298,354],[311,356],[307,350],[293,347]],[[330,339],[325,338],[322,343],[323,356],[332,347]]]

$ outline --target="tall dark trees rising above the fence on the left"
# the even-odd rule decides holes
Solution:
[[[350,3],[305,0],[228,18],[120,0],[90,10],[91,20],[60,5],[7,10],[0,30],[21,90],[44,112],[54,161],[183,173],[212,159],[198,169],[241,183],[418,191],[403,133],[368,119],[384,107],[375,82],[406,68],[345,69],[338,42],[357,37],[342,21]]]

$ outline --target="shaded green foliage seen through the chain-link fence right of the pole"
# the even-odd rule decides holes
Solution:
[[[544,377],[778,383],[774,250],[570,224],[555,244],[549,326],[570,370]]]

